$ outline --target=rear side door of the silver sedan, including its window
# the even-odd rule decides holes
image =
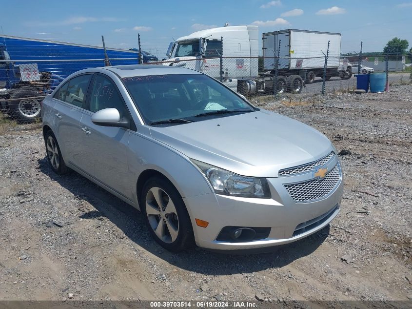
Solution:
[[[82,161],[80,119],[91,78],[92,74],[78,75],[65,82],[54,95],[55,135],[64,161],[75,166],[81,165]]]

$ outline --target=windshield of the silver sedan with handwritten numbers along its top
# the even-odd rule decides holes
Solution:
[[[122,81],[146,124],[173,119],[197,122],[257,110],[203,74],[148,75]],[[199,117],[209,112],[211,115]]]

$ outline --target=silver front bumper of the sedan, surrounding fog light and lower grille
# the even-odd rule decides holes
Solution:
[[[334,161],[330,163],[332,167],[338,164],[337,155],[331,161]],[[271,199],[215,193],[183,198],[190,212],[197,246],[220,250],[272,247],[297,241],[326,227],[339,213],[343,181],[340,178],[334,189],[321,199],[295,203],[284,184],[307,181],[311,177],[311,173],[304,173],[268,178]],[[198,227],[195,218],[207,221],[209,225]],[[227,226],[270,227],[271,230],[265,239],[247,242],[216,240],[221,229]]]

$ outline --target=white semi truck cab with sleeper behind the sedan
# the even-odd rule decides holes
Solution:
[[[166,55],[172,62],[164,65],[184,66],[220,79],[219,57],[233,57],[223,59],[225,80],[246,81],[257,77],[258,54],[257,26],[226,26],[197,31],[171,42]]]

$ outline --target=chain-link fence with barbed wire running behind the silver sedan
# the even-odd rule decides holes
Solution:
[[[308,94],[352,92],[356,89],[358,74],[377,72],[387,73],[388,85],[411,82],[412,54],[228,57],[222,56],[224,50],[219,44],[221,42],[216,41],[216,48],[202,56],[145,64],[193,69],[223,82],[246,97],[290,93],[299,98]],[[0,107],[3,115],[19,122],[39,121],[42,99],[70,74],[85,68],[139,62],[137,55],[130,58],[64,60],[55,60],[53,55],[49,55],[46,58],[0,59]]]

